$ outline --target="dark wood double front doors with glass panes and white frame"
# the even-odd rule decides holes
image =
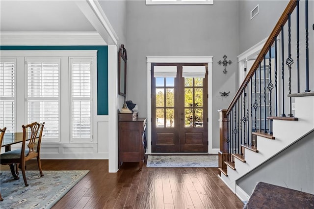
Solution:
[[[213,153],[212,56],[154,56],[147,62],[147,153]]]

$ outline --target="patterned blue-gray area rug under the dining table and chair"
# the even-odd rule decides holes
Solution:
[[[89,171],[26,171],[28,186],[14,180],[11,171],[1,171],[1,209],[50,209]]]

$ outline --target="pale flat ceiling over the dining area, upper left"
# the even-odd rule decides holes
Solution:
[[[0,0],[0,31],[96,31],[74,0]]]

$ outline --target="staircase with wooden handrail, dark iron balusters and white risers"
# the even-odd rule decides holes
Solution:
[[[288,2],[228,109],[219,110],[219,177],[244,201],[236,181],[314,129],[309,11],[308,0]]]

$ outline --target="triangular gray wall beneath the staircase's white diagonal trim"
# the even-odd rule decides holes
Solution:
[[[314,194],[314,131],[237,181],[248,195],[258,182]]]

